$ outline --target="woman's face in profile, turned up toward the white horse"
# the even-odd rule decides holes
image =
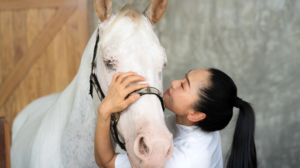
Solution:
[[[192,103],[197,100],[197,90],[207,80],[206,69],[191,70],[186,77],[174,80],[164,93],[165,106],[173,113],[187,115]]]

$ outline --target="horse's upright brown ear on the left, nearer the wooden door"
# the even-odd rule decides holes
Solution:
[[[104,22],[112,13],[112,0],[94,0],[94,7],[100,21]]]

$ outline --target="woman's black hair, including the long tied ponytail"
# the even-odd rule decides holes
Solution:
[[[230,122],[233,107],[236,106],[237,89],[233,80],[222,71],[209,68],[207,72],[207,82],[199,86],[198,100],[192,105],[192,109],[206,114],[198,126],[211,132],[225,128]],[[243,100],[240,100],[239,108],[233,142],[225,164],[227,163],[227,168],[256,168],[254,110]]]

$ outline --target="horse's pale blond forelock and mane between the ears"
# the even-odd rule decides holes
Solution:
[[[106,37],[106,35],[109,33],[109,31],[112,29],[112,27],[124,16],[127,16],[129,18],[131,18],[133,21],[135,21],[136,23],[138,23],[138,27],[142,21],[142,14],[136,10],[135,8],[133,8],[132,4],[126,4],[119,12],[118,16],[116,17],[116,19],[111,23],[111,25],[109,26],[109,28],[106,30],[106,32],[103,34],[102,37],[100,37],[100,43],[98,46],[101,46],[103,39]],[[100,47],[98,47],[98,50],[100,49]],[[95,58],[96,62],[97,57]]]

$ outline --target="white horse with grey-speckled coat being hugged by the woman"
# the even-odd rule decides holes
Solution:
[[[153,32],[167,0],[152,0],[144,13],[130,5],[112,11],[112,0],[95,0],[100,40],[96,76],[106,94],[112,75],[133,71],[163,92],[162,68],[167,58]],[[84,50],[77,75],[62,92],[39,98],[15,118],[12,129],[11,166],[98,167],[94,158],[94,132],[98,95],[89,95],[96,31]],[[72,57],[72,55],[70,55]],[[117,124],[133,167],[163,167],[173,153],[161,102],[143,95],[122,111]],[[121,138],[121,137],[120,137]]]

